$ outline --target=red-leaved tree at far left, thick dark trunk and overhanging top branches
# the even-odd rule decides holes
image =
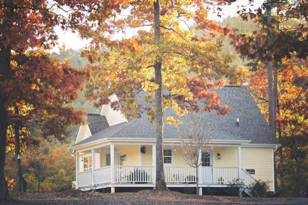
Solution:
[[[99,38],[104,20],[119,11],[118,1],[0,1],[0,82],[10,87],[12,51],[50,49],[56,44],[54,27],[79,32],[81,37]],[[82,11],[82,12],[81,12]],[[14,93],[0,94],[0,200],[8,197],[4,177],[6,131],[8,127],[7,99]],[[17,97],[16,97],[17,98]]]

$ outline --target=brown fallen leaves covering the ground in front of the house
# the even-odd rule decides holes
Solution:
[[[198,196],[177,191],[142,190],[138,192],[92,193],[68,190],[63,192],[41,191],[10,193],[13,199],[111,199],[111,200],[155,200],[155,201],[207,201],[207,202],[285,202],[287,198],[249,198],[237,196]]]

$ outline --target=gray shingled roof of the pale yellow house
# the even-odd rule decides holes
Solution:
[[[215,92],[221,97],[221,105],[229,106],[229,112],[224,116],[217,116],[215,111],[204,112],[205,126],[211,130],[213,140],[251,140],[254,144],[278,144],[278,140],[271,133],[269,125],[245,86],[225,86]],[[138,103],[143,102],[144,94],[142,92],[138,95]],[[175,116],[172,109],[168,108],[164,111],[164,117],[167,116]],[[155,125],[149,124],[147,118],[145,114],[142,114],[139,119],[102,128],[96,134],[93,134],[90,128],[92,136],[76,145],[106,137],[154,138]],[[182,124],[178,125],[179,129],[187,127],[188,122],[185,116],[175,118],[182,121]],[[236,125],[237,118],[239,118],[240,127]],[[89,122],[90,126],[91,122]],[[99,127],[96,120],[92,121],[91,127]],[[176,138],[176,135],[175,126],[169,124],[164,126],[164,138]]]

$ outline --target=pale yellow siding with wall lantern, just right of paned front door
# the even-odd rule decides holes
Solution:
[[[237,167],[237,147],[236,148],[226,148],[226,147],[214,147],[213,157],[215,167]],[[217,153],[221,155],[221,158],[217,158]],[[213,162],[212,162],[213,163]]]

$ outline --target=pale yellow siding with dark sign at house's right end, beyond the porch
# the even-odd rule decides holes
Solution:
[[[242,147],[242,168],[254,169],[255,179],[270,180],[270,189],[273,190],[273,148]]]

